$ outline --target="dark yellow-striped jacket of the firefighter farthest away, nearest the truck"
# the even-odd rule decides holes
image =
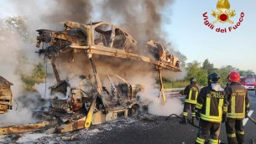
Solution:
[[[190,104],[196,104],[196,99],[199,93],[199,89],[195,84],[187,85],[184,90],[185,102]]]

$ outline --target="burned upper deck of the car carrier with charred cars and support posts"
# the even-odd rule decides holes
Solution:
[[[99,83],[100,80],[97,80],[97,64],[93,60],[94,55],[132,59],[154,64],[154,69],[159,72],[159,76],[161,76],[160,69],[180,72],[179,59],[171,54],[163,44],[151,40],[145,44],[144,48],[139,48],[137,41],[129,33],[112,23],[81,24],[67,21],[64,22],[64,27],[65,29],[62,31],[37,30],[39,36],[37,37],[38,43],[36,46],[40,48],[43,45],[38,53],[44,54],[51,60],[55,79],[59,84],[52,88],[63,90],[60,85],[66,86],[65,81],[60,80],[60,75],[55,65],[55,59],[60,59],[61,54],[85,53],[91,62],[91,69],[93,69],[97,81],[98,91],[102,89],[102,86]],[[159,79],[162,81],[161,77]],[[62,92],[65,93],[66,91]]]

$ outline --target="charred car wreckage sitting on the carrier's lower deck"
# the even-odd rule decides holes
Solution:
[[[99,76],[105,82],[102,85],[102,99],[97,100],[95,111],[107,111],[109,113],[109,109],[115,109],[118,105],[118,110],[123,108],[123,111],[126,111],[126,115],[136,116],[139,105],[142,105],[141,101],[139,101],[140,97],[137,94],[140,91],[144,91],[144,85],[131,85],[127,80],[124,80],[118,75]],[[93,85],[91,81],[86,78],[81,80],[78,85],[71,87],[68,96],[70,98],[68,104],[70,105],[67,107],[73,111],[77,111],[84,106],[86,111],[89,111],[92,93]]]

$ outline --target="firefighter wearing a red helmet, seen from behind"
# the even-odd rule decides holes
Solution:
[[[248,90],[239,85],[240,75],[231,72],[228,75],[230,85],[226,88],[227,101],[227,141],[228,143],[244,143],[243,118],[247,117],[249,110]]]

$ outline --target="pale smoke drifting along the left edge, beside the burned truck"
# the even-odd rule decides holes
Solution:
[[[18,18],[17,18],[18,19]],[[16,20],[17,20],[16,19]],[[36,54],[28,41],[25,41],[24,34],[20,31],[21,25],[15,21],[6,23],[6,19],[1,19],[0,29],[0,75],[13,83],[11,90],[13,93],[13,110],[0,115],[1,122],[10,125],[29,122],[32,120],[32,109],[38,104],[37,97],[32,93],[24,91],[20,73],[29,74],[33,69],[33,64],[37,62],[34,58]],[[16,110],[16,108],[18,108]],[[4,125],[4,124],[1,124]]]

